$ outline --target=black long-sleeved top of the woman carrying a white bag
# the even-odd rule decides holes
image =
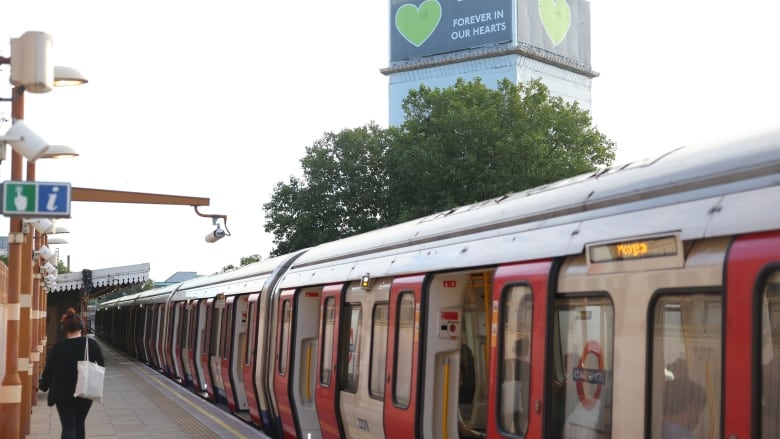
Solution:
[[[49,391],[50,406],[73,399],[73,392],[76,390],[76,363],[84,359],[86,342],[89,342],[89,361],[105,366],[103,351],[97,341],[87,337],[58,341],[46,358],[46,367],[38,381],[38,388],[41,391]]]

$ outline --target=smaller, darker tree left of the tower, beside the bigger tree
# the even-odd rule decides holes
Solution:
[[[325,135],[306,149],[303,177],[277,183],[264,204],[272,255],[377,229],[386,224],[384,156],[391,131],[369,123]]]

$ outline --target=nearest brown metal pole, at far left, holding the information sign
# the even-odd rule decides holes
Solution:
[[[11,117],[24,119],[24,88],[12,90]],[[21,154],[11,148],[11,180],[22,179]],[[19,379],[20,280],[22,218],[12,216],[8,231],[8,305],[6,306],[5,376],[0,387],[0,437],[21,438],[22,382]]]

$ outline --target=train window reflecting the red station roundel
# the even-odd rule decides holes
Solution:
[[[613,326],[607,296],[556,298],[549,437],[611,437]]]

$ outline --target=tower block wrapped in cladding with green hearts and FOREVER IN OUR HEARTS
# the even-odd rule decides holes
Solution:
[[[390,0],[390,124],[420,84],[449,87],[457,78],[541,78],[553,95],[590,109],[588,0]]]

